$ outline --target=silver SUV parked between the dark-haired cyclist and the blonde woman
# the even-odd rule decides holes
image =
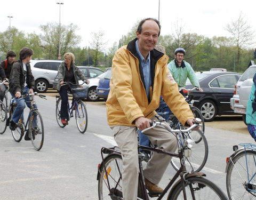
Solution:
[[[62,60],[32,60],[30,67],[35,78],[35,91],[46,92],[53,87],[53,81],[57,75],[58,67]]]

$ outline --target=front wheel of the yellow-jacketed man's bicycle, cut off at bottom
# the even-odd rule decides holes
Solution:
[[[192,188],[191,188],[192,187]],[[223,191],[216,186],[210,180],[205,179],[204,177],[190,177],[185,181],[185,190],[187,200],[190,199],[214,199],[214,200],[226,200],[228,199]],[[192,194],[191,194],[192,193]],[[195,198],[192,197],[195,195]],[[183,186],[182,182],[178,183],[175,188],[173,188],[167,200],[181,200],[184,199],[183,196]]]

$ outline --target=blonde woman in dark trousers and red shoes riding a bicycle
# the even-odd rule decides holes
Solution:
[[[59,68],[58,68],[58,78],[59,83],[57,85],[57,90],[60,93],[61,97],[61,108],[60,108],[60,114],[61,114],[61,123],[63,125],[67,125],[67,119],[68,119],[68,90],[69,85],[63,85],[64,82],[71,82],[73,84],[78,84],[78,78],[81,78],[82,81],[89,84],[90,82],[85,78],[82,71],[75,66],[75,55],[73,53],[65,53],[64,60]],[[63,86],[61,86],[63,85]]]

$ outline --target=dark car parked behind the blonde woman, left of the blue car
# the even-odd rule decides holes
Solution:
[[[98,94],[96,93],[96,87],[99,84],[99,79],[101,75],[104,74],[105,72],[95,67],[85,67],[85,66],[78,66],[78,67],[83,71],[85,77],[88,78],[90,81],[87,100],[98,101],[99,97],[98,97]],[[57,89],[58,82],[59,80],[58,80],[58,77],[56,76],[53,82],[54,89]],[[83,81],[79,80],[79,84],[82,84],[82,83]]]

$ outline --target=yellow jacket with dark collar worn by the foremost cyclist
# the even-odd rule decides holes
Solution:
[[[135,49],[133,39],[128,45],[121,47],[114,55],[110,92],[106,102],[109,125],[135,126],[138,117],[151,118],[156,115],[162,95],[174,115],[184,125],[193,119],[185,98],[179,93],[178,85],[170,81],[166,75],[167,55],[150,51],[152,87],[147,98],[142,67]],[[153,89],[153,90],[152,90]]]

